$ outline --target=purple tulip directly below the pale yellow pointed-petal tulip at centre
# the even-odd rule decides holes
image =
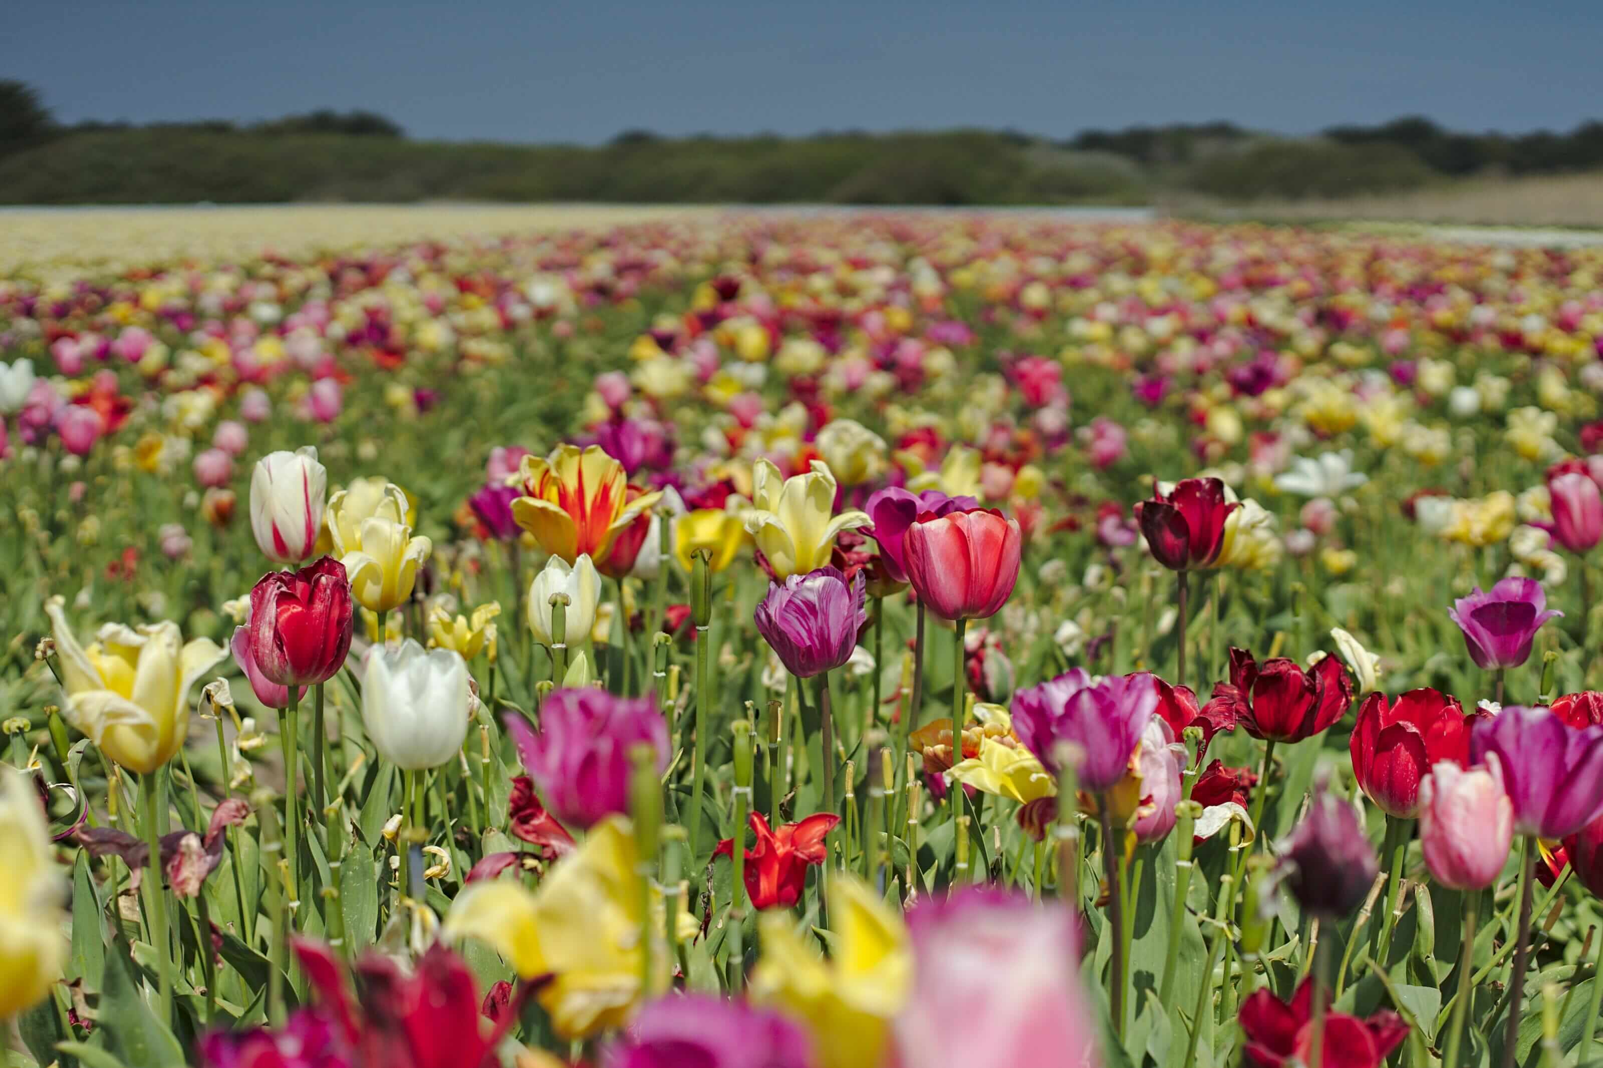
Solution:
[[[861,571],[848,581],[832,566],[793,574],[784,585],[768,584],[755,619],[785,670],[811,678],[851,659],[869,621],[867,585]]]

